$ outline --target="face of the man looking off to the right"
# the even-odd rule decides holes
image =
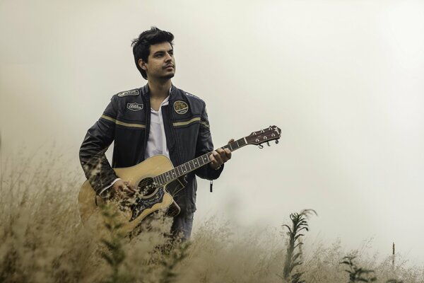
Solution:
[[[151,45],[148,62],[139,60],[139,65],[151,79],[171,79],[175,75],[174,50],[170,42]]]

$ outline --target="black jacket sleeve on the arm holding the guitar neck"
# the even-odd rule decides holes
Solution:
[[[208,113],[206,112],[206,105],[204,104],[201,110],[199,136],[197,137],[196,144],[196,156],[201,156],[211,151],[213,151],[212,136],[209,126]],[[201,168],[197,169],[195,173],[200,178],[207,180],[215,180],[218,179],[223,169],[224,164],[221,165],[218,170],[215,170],[211,168],[209,164],[206,164],[205,166],[202,166]]]

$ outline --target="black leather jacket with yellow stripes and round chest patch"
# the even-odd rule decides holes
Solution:
[[[150,131],[151,106],[148,85],[112,96],[98,122],[88,129],[80,149],[80,161],[90,185],[100,192],[116,178],[105,157],[114,141],[113,168],[134,166],[144,160]],[[172,86],[169,105],[162,106],[170,160],[174,166],[213,151],[206,105],[203,100]],[[182,212],[196,211],[196,175],[214,180],[223,171],[203,166],[189,173],[187,185],[175,196]]]

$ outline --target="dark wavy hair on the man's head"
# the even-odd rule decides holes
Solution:
[[[151,45],[170,42],[171,47],[173,47],[174,42],[172,42],[172,40],[174,40],[174,35],[172,35],[172,33],[160,30],[156,27],[151,27],[150,30],[143,31],[138,38],[132,41],[131,47],[133,47],[134,62],[136,62],[136,67],[139,69],[144,79],[147,79],[147,74],[146,71],[139,66],[139,59],[147,63]]]

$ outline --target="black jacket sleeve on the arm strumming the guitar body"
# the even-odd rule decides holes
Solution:
[[[79,158],[88,182],[96,193],[110,185],[117,177],[105,156],[114,140],[117,117],[116,100],[112,97],[98,122],[88,129],[79,151]]]

